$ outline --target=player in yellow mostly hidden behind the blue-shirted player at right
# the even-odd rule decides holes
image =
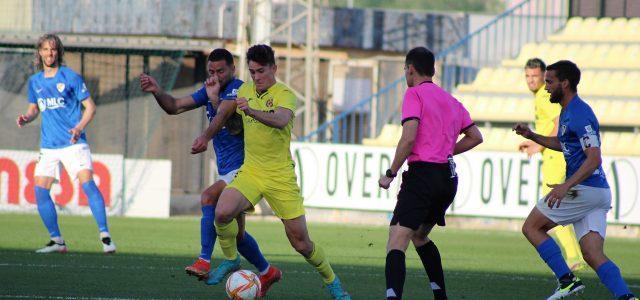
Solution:
[[[541,59],[532,58],[525,64],[524,72],[527,86],[535,96],[535,131],[544,136],[555,136],[558,134],[558,117],[561,107],[559,104],[549,101],[551,95],[544,88],[545,69],[546,65]],[[531,140],[522,142],[519,150],[526,152],[529,157],[538,152],[542,153],[542,193],[544,195],[551,191],[549,185],[564,182],[566,165],[562,152],[546,149]],[[573,225],[557,226],[554,233],[564,248],[567,264],[571,270],[583,268],[585,264],[573,231]]]

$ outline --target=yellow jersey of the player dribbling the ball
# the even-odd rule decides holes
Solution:
[[[238,98],[246,98],[249,107],[259,111],[275,112],[278,107],[296,111],[296,96],[288,86],[279,82],[262,94],[256,91],[253,81],[245,82],[240,86]],[[291,168],[293,160],[289,147],[294,118],[283,129],[278,129],[247,116],[239,109],[238,113],[242,115],[244,125],[243,168],[270,171]]]

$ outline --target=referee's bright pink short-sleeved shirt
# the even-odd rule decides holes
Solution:
[[[409,162],[448,162],[460,133],[474,125],[462,103],[430,81],[408,88],[404,95],[402,124],[415,119],[420,125]]]

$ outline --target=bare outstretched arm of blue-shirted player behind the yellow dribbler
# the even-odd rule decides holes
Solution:
[[[175,98],[166,93],[158,82],[147,74],[140,74],[140,88],[144,92],[151,93],[162,110],[170,115],[177,115],[199,106],[192,96]]]

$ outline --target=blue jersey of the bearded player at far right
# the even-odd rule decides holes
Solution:
[[[593,110],[577,95],[560,112],[558,139],[567,162],[567,178],[571,177],[587,159],[584,151],[600,147],[600,125]],[[608,188],[602,165],[579,184]]]

